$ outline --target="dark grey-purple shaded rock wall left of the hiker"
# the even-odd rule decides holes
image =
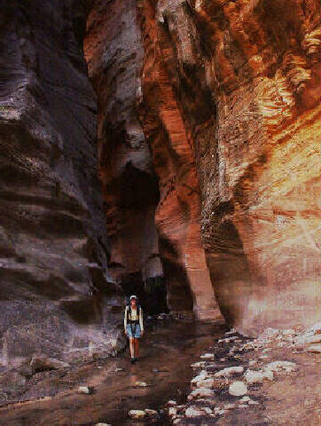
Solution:
[[[97,178],[83,2],[4,1],[0,80],[0,355],[110,353],[121,320]],[[110,281],[110,282],[109,282]]]

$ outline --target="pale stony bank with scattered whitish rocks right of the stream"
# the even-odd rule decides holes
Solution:
[[[257,339],[231,330],[192,367],[184,404],[168,401],[176,425],[320,423],[321,324],[267,328]]]

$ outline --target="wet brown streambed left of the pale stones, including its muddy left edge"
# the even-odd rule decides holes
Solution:
[[[68,367],[51,363],[50,370],[27,377],[13,369],[4,372],[0,425],[166,425],[170,420],[165,403],[184,403],[193,360],[226,329],[223,324],[165,315],[150,322],[135,365],[129,363],[127,348],[115,358]]]

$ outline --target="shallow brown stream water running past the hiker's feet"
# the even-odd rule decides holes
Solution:
[[[35,400],[0,408],[5,426],[91,426],[96,422],[113,426],[142,425],[129,419],[131,409],[160,409],[168,399],[184,400],[193,375],[191,364],[223,335],[226,328],[205,322],[157,320],[140,344],[140,359],[129,363],[129,349],[116,359],[95,361],[72,373],[55,377],[48,386],[47,400]],[[77,393],[77,386],[59,391],[69,380],[92,386],[90,395]],[[75,382],[76,380],[76,382]],[[143,388],[137,382],[147,383]],[[41,386],[41,384],[39,385]],[[38,389],[35,390],[35,398]],[[44,385],[43,385],[44,386]],[[43,394],[43,390],[41,392]],[[168,424],[164,418],[153,424]]]

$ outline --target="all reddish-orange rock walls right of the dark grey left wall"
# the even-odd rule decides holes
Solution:
[[[163,274],[170,310],[219,318],[217,300],[246,333],[315,321],[319,9],[94,2],[85,51],[123,287]]]

